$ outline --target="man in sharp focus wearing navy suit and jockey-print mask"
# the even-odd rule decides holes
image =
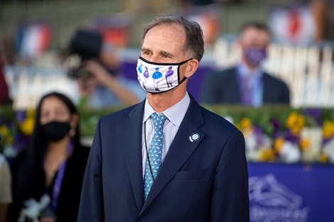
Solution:
[[[249,221],[244,137],[186,91],[203,53],[198,23],[159,16],[146,25],[138,67],[149,70],[148,95],[97,124],[78,221]],[[156,67],[173,70],[173,87],[164,76],[156,91]]]

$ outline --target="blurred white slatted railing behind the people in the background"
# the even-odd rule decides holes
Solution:
[[[124,50],[122,60],[134,60],[133,57],[137,57],[138,53],[138,50]],[[240,57],[237,44],[225,39],[217,40],[213,50],[206,54],[205,57],[210,60],[206,62],[214,64],[217,69],[235,65]],[[269,57],[263,64],[264,70],[289,85],[293,108],[334,106],[333,48],[272,44],[268,54]],[[68,78],[65,70],[56,68],[54,60],[48,61],[46,58],[41,62],[44,68],[41,65],[28,68],[6,67],[6,79],[15,109],[35,107],[41,96],[48,91],[60,91],[75,102],[79,100],[75,81]],[[48,67],[45,64],[49,64]]]

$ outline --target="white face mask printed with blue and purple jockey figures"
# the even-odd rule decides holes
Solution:
[[[157,63],[139,57],[137,62],[138,81],[145,91],[151,93],[161,93],[174,89],[187,79],[183,77],[180,80],[179,67],[189,60],[179,63]]]

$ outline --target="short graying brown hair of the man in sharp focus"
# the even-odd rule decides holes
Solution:
[[[183,51],[185,54],[190,54],[195,59],[200,61],[204,54],[203,31],[200,25],[195,21],[188,21],[182,16],[157,16],[150,23],[147,23],[144,28],[143,41],[146,34],[151,28],[166,24],[178,24],[185,30],[185,45]]]

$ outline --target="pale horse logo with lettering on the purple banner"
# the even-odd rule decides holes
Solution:
[[[251,221],[306,222],[308,207],[301,208],[303,198],[277,181],[274,174],[249,177]]]

